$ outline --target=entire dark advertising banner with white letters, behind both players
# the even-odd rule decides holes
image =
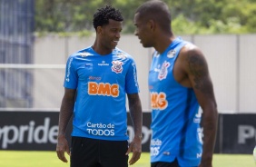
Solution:
[[[58,112],[0,112],[0,149],[55,151]],[[133,124],[127,113],[128,135],[133,139]],[[219,114],[215,153],[252,153],[256,138],[256,114]],[[150,151],[151,113],[143,113],[143,152]],[[66,137],[71,142],[72,124]],[[131,141],[130,141],[131,142]]]

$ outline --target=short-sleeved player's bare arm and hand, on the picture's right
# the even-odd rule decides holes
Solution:
[[[142,126],[143,126],[143,112],[142,103],[138,93],[127,94],[129,101],[129,109],[131,119],[133,122],[134,138],[130,143],[129,149],[126,154],[133,152],[133,156],[129,161],[129,164],[137,162],[142,153]]]

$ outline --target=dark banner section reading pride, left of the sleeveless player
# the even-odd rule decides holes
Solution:
[[[54,151],[58,134],[58,112],[0,112],[0,149]],[[133,139],[133,126],[128,118],[128,134]],[[143,152],[149,152],[150,113],[143,113]],[[66,137],[71,142],[72,124]]]

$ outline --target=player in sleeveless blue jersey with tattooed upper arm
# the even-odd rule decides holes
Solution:
[[[202,51],[174,36],[162,1],[139,6],[134,25],[143,47],[155,49],[149,72],[151,166],[212,167],[218,112]]]

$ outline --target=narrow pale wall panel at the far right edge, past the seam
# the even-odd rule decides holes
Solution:
[[[256,35],[242,35],[239,44],[239,105],[242,112],[256,113]]]

